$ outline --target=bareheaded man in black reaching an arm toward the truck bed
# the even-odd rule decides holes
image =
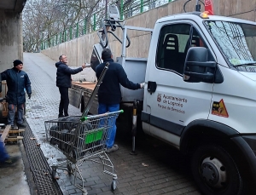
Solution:
[[[55,66],[57,68],[56,72],[56,85],[59,88],[60,94],[61,94],[61,101],[59,106],[59,118],[67,117],[68,116],[68,105],[69,105],[69,99],[68,99],[68,88],[71,88],[71,82],[72,74],[77,74],[81,71],[83,71],[85,65],[82,65],[82,67],[79,67],[77,69],[72,69],[67,66],[67,56],[64,54],[61,54],[59,57],[59,62],[55,63]],[[63,115],[64,111],[64,115]]]

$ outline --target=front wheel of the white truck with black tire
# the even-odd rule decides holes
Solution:
[[[236,162],[221,146],[199,146],[192,157],[191,169],[202,194],[240,195],[244,190]]]

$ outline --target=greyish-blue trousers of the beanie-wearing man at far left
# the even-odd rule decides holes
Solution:
[[[24,104],[19,104],[18,106],[15,104],[8,105],[8,123],[10,125],[15,124],[15,111],[17,107],[17,123],[23,123],[23,113],[24,113]]]

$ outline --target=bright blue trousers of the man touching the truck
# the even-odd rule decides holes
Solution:
[[[106,112],[115,112],[119,111],[119,104],[102,104],[99,103],[98,107],[98,114],[103,114]],[[115,134],[116,134],[116,125],[115,125],[116,118],[113,121],[113,128],[109,129],[109,139],[107,141],[107,148],[110,148],[113,146]]]

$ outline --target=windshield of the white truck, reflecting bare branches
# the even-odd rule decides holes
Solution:
[[[256,26],[230,21],[205,21],[230,64],[256,66]]]

